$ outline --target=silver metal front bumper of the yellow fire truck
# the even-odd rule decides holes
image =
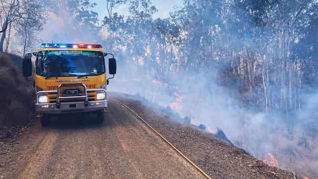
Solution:
[[[62,114],[74,112],[91,112],[107,108],[107,100],[88,101],[86,106],[82,102],[61,102],[58,108],[55,103],[36,103],[35,111],[38,113]]]

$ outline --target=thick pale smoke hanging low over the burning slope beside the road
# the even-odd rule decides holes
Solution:
[[[138,66],[120,63],[118,75],[110,81],[108,90],[139,94],[160,106],[170,106],[181,117],[190,116],[196,125],[204,124],[214,133],[222,128],[236,146],[256,158],[264,160],[266,153],[272,154],[281,169],[316,174],[318,94],[307,98],[306,106],[295,119],[294,132],[290,134],[280,113],[268,115],[246,109],[233,97],[232,90],[207,80],[202,74],[169,77],[168,81],[156,79],[158,77],[146,75]],[[173,103],[182,107],[175,107]]]

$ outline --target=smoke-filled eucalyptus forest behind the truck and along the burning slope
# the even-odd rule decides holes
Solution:
[[[119,63],[108,89],[318,177],[318,1],[183,0],[168,17],[158,11],[152,0],[0,0],[0,53],[100,43]]]

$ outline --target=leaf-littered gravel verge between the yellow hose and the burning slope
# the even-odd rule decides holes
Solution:
[[[135,110],[214,179],[300,179],[294,173],[278,169],[277,160],[271,154],[264,161],[257,160],[221,140],[220,131],[212,134],[192,124],[181,124],[184,119],[171,110],[151,104],[138,95],[116,93],[112,98]]]

